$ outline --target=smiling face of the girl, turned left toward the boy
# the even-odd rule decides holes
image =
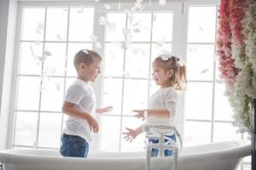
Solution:
[[[165,87],[166,85],[170,84],[170,78],[173,75],[173,70],[165,70],[164,68],[161,67],[160,64],[154,62],[153,63],[153,78],[154,82],[157,85],[160,85],[161,87]]]

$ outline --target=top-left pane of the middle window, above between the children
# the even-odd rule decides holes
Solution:
[[[126,14],[122,13],[110,13],[108,14],[108,21],[115,25],[115,29],[107,27],[107,41],[108,42],[120,42],[123,41],[125,36],[123,29],[126,24]]]

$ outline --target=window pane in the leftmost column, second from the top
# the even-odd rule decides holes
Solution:
[[[38,57],[43,54],[43,43],[20,42],[20,74],[41,75],[42,62]]]

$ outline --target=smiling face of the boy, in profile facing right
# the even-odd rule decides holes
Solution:
[[[93,57],[93,62],[90,65],[85,65],[85,63],[81,63],[79,65],[80,70],[80,78],[82,78],[86,82],[96,82],[96,77],[102,72],[102,59]]]

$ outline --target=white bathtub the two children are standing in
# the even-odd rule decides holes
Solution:
[[[242,141],[204,144],[184,148],[178,155],[178,170],[231,170],[251,146]],[[95,152],[88,159],[62,157],[58,150],[2,150],[4,170],[143,170],[143,152]],[[170,170],[172,158],[152,158],[151,169]]]

